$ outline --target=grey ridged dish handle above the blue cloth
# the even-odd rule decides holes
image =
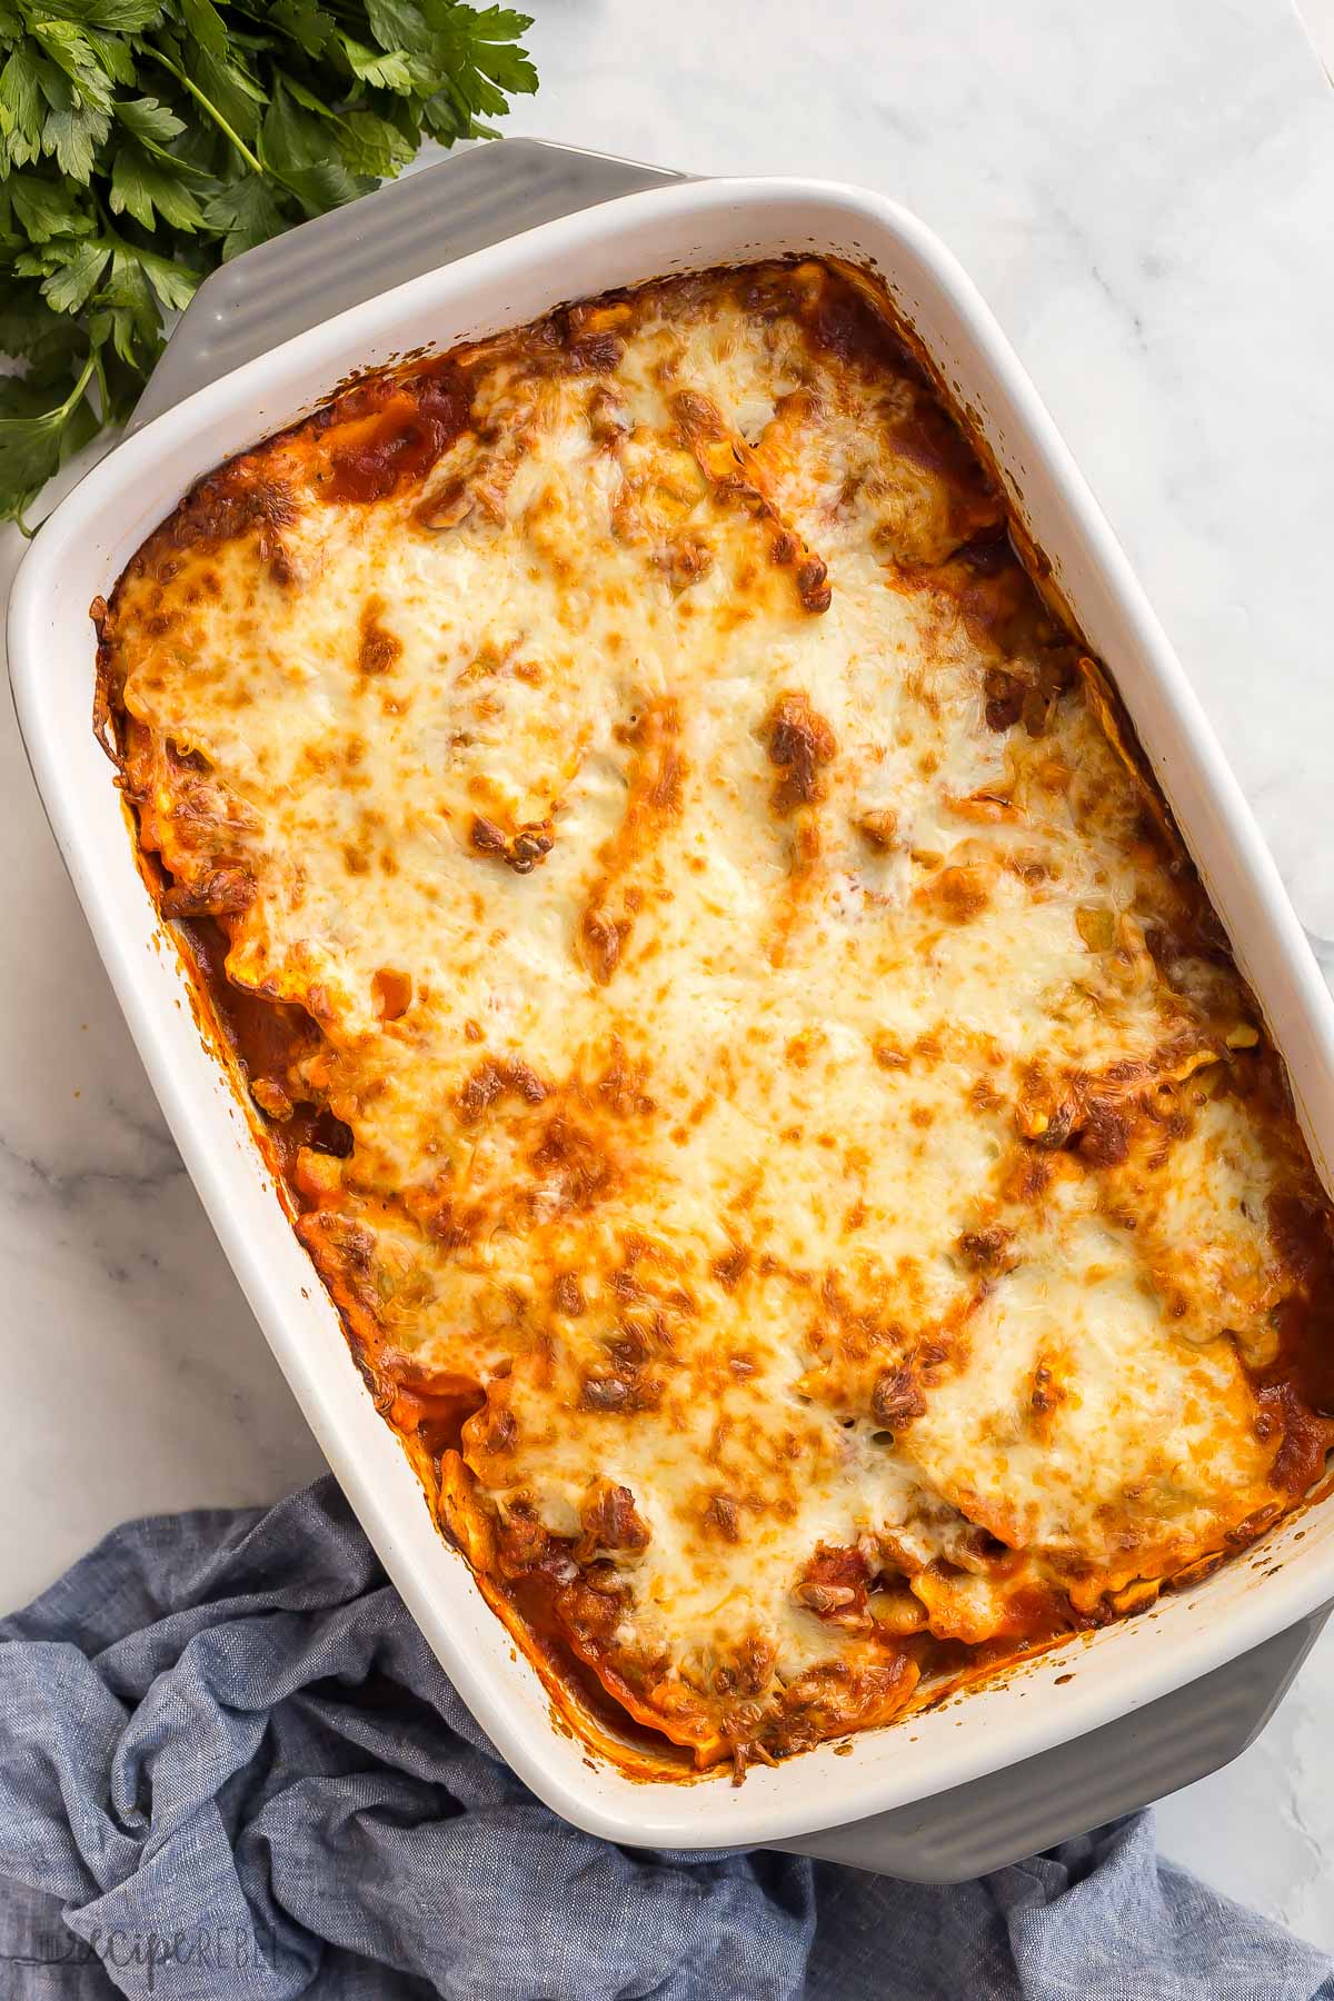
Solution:
[[[1274,1715],[1328,1617],[1324,1607],[1240,1661],[1054,1751],[912,1807],[772,1847],[910,1883],[964,1883],[1004,1869],[1238,1757]]]

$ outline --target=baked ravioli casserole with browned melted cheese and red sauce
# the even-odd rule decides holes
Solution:
[[[354,382],[94,606],[366,1385],[632,1761],[1136,1613],[1334,1443],[1282,1065],[1010,528],[876,282],[768,262]]]

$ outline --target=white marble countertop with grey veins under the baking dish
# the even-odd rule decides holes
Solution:
[[[1334,40],[1334,0],[1306,0]],[[1334,92],[1286,0],[534,0],[510,130],[916,208],[1016,342],[1334,940]],[[0,538],[0,588],[18,538]],[[0,1603],[320,1457],[182,1175],[0,718]],[[1334,966],[1334,948],[1326,954]],[[1168,1855],[1334,1947],[1334,1629]]]

